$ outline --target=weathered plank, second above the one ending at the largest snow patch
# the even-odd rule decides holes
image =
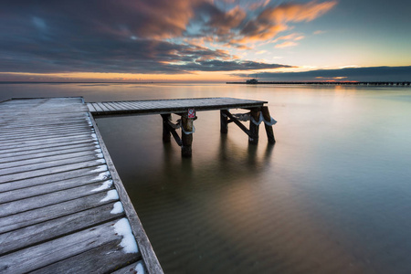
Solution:
[[[104,200],[106,196],[106,192],[99,192],[57,205],[47,205],[15,215],[0,217],[0,234],[117,201],[115,199]]]

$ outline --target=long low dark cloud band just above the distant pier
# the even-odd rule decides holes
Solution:
[[[411,66],[407,67],[369,67],[318,69],[302,72],[262,72],[236,74],[240,78],[258,77],[266,81],[321,81],[321,80],[351,80],[351,81],[410,81]]]

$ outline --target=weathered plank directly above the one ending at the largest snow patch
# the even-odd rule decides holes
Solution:
[[[51,219],[41,224],[0,234],[0,243],[2,243],[0,245],[0,255],[31,247],[37,243],[62,237],[124,216],[124,212],[111,213],[115,203],[100,205],[68,216]]]

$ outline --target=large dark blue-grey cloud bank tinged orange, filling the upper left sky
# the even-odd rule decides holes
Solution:
[[[239,8],[225,13],[205,0],[5,0],[0,71],[176,74],[288,67],[239,61],[223,50],[175,40],[199,10],[221,35],[245,17]]]

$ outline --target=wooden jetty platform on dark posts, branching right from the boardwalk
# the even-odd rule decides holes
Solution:
[[[274,143],[272,125],[276,122],[269,115],[269,108],[264,106],[267,101],[244,100],[236,98],[198,98],[176,100],[127,100],[90,102],[90,113],[98,117],[161,114],[163,118],[163,142],[170,142],[173,135],[175,142],[182,148],[184,157],[191,157],[194,121],[196,111],[220,111],[221,133],[226,134],[228,123],[234,122],[248,135],[250,143],[258,143],[258,126],[261,121],[265,123],[269,143]],[[249,129],[241,123],[230,109],[245,109],[249,112],[247,117]],[[172,113],[180,116],[176,123],[172,122]],[[243,120],[244,121],[244,120]],[[176,132],[181,128],[181,136]]]

